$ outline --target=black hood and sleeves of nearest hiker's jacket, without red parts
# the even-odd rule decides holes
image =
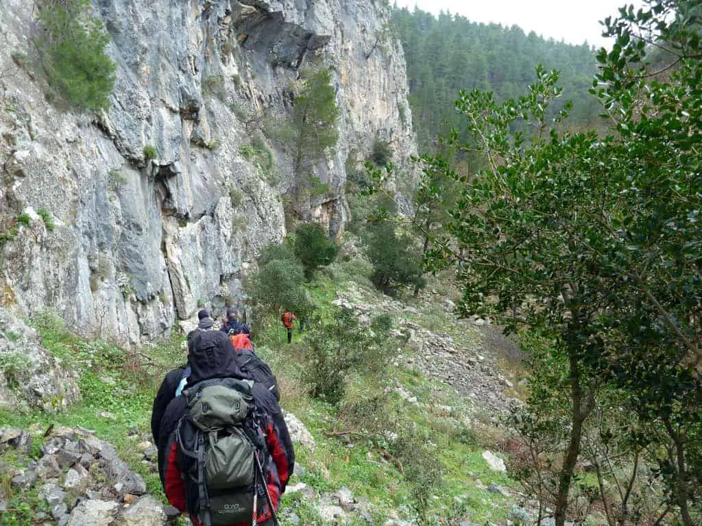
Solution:
[[[221,331],[204,331],[196,335],[190,343],[190,354],[188,365],[191,373],[188,377],[186,389],[198,382],[212,378],[241,378],[251,379],[237,365],[236,351],[232,346],[229,337]],[[180,379],[180,377],[179,377]],[[177,383],[176,383],[177,387]],[[175,391],[175,388],[174,388]],[[270,429],[275,435],[277,443],[284,453],[284,461],[276,461],[276,466],[283,467],[286,473],[278,473],[280,479],[280,490],[284,491],[287,480],[293,472],[295,462],[295,452],[288,432],[288,428],[283,419],[280,406],[273,393],[268,391],[263,384],[253,384],[253,399],[259,410],[262,410],[270,417]],[[177,396],[167,405],[159,426],[157,443],[159,448],[159,475],[161,482],[166,486],[166,469],[168,468],[167,455],[173,449],[175,442],[175,431],[178,422],[187,412],[185,397]],[[276,457],[276,454],[271,453]],[[277,454],[278,460],[280,453]]]

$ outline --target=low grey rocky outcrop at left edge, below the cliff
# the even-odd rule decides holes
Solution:
[[[0,306],[0,407],[54,412],[80,400],[74,373],[37,332]]]

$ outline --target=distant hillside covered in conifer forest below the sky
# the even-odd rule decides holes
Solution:
[[[524,34],[517,26],[478,24],[448,13],[435,17],[420,9],[396,7],[393,19],[404,47],[420,150],[430,149],[452,126],[460,128],[464,119],[453,105],[459,90],[492,90],[498,100],[517,97],[538,64],[561,73],[559,105],[574,102],[570,126],[595,126],[600,107],[588,90],[597,66],[587,43],[571,46]]]

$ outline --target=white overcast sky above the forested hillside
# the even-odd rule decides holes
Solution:
[[[395,1],[395,0],[393,0]],[[611,48],[602,36],[599,20],[616,15],[625,4],[642,5],[641,0],[397,0],[399,7],[438,14],[449,11],[472,22],[518,25],[524,33],[536,32],[545,38],[590,46]]]

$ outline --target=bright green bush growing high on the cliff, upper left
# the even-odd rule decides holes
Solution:
[[[37,44],[49,83],[77,107],[107,107],[116,66],[105,53],[110,36],[93,18],[90,2],[40,0],[37,7],[45,29]]]

